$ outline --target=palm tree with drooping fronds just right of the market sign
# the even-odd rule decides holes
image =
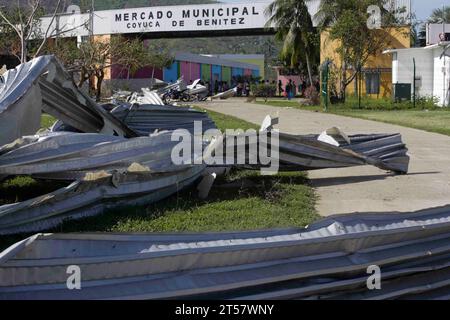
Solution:
[[[275,0],[266,10],[270,16],[268,28],[276,28],[276,38],[284,42],[281,58],[296,67],[306,61],[309,81],[312,85],[312,59],[317,53],[317,33],[308,11],[309,0]]]

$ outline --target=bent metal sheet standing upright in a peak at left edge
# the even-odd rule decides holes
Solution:
[[[39,129],[36,124],[40,121],[41,110],[81,132],[136,136],[76,88],[71,76],[54,56],[42,56],[21,64],[9,70],[4,77],[7,83],[0,88],[0,111],[9,111],[16,116],[14,119],[0,119],[2,126],[15,120],[16,126],[26,128],[30,119],[34,122],[29,125],[29,129],[16,130],[13,136],[0,140],[1,145],[35,133]]]

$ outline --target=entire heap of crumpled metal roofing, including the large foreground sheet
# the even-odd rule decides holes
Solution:
[[[180,80],[141,94],[119,92],[112,103],[101,106],[78,90],[52,56],[8,71],[4,80],[0,177],[31,176],[68,185],[0,206],[0,235],[44,231],[108,209],[146,205],[195,184],[200,197],[207,197],[220,172],[263,167],[262,136],[268,137],[265,151],[279,150],[282,171],[360,165],[408,171],[407,148],[398,134],[347,136],[332,128],[321,135],[294,136],[279,133],[274,129],[277,119],[268,117],[260,132],[204,135],[216,129],[205,112],[166,106],[161,98],[175,91],[201,95],[205,88],[199,82],[188,87]],[[41,112],[58,122],[51,131],[35,135]],[[197,124],[201,132],[195,130]],[[182,164],[175,164],[172,155],[178,129],[195,137],[193,144],[202,135],[191,161]],[[241,165],[225,159],[221,168],[206,164],[231,141],[237,141],[233,150],[243,150],[236,155],[256,162]],[[0,299],[439,295],[438,289],[450,286],[445,278],[449,223],[450,209],[442,208],[336,217],[301,230],[36,235],[0,253]],[[383,294],[366,292],[371,264],[383,267],[389,288]],[[71,265],[83,270],[81,291],[67,290]],[[421,284],[427,278],[433,283],[424,290]],[[418,289],[404,290],[404,283]]]

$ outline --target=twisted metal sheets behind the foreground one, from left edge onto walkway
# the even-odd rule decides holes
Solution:
[[[173,130],[185,129],[190,135],[197,135],[196,122],[202,124],[200,133],[216,128],[205,112],[136,103],[117,104],[108,112],[79,91],[52,56],[9,71],[5,80],[0,88],[0,116],[4,117],[0,128],[3,123],[14,123],[20,130],[7,136],[0,146],[0,177],[26,175],[72,184],[36,199],[0,206],[0,234],[47,230],[62,221],[106,209],[148,204],[208,174],[204,161],[193,161],[195,164],[187,166],[175,165],[171,159],[176,144],[171,139]],[[180,86],[183,87],[182,80],[169,90]],[[160,93],[166,90],[161,89]],[[153,98],[156,99],[153,93],[146,97]],[[37,130],[34,121],[40,119],[41,110],[59,119],[53,132],[22,137],[22,131]],[[24,114],[29,117],[21,118]],[[262,161],[251,147],[258,144],[261,135],[274,133],[274,119],[268,120],[259,134],[229,134],[222,144],[203,137],[200,149],[214,152],[214,148],[226,148],[229,138],[236,139],[238,149],[244,148],[240,156],[256,162],[225,162],[225,166],[259,169]],[[19,134],[20,139],[5,144]],[[329,130],[320,136],[279,134],[279,138],[281,170],[367,164],[399,173],[408,170],[409,157],[400,135],[346,137],[339,130]],[[274,146],[269,145],[268,149],[271,147]],[[203,154],[193,156],[204,160]],[[214,181],[209,178],[202,184],[202,195],[208,194],[207,187]]]

